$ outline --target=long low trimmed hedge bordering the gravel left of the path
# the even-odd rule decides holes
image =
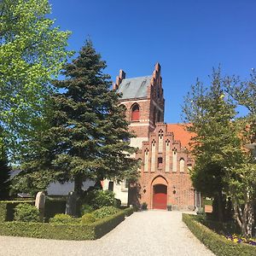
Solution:
[[[95,240],[113,230],[125,219],[120,211],[92,224],[46,224],[25,222],[0,223],[0,236],[26,236],[60,240]]]

